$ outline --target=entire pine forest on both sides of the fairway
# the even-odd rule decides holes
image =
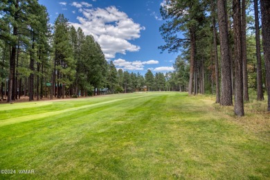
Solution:
[[[49,24],[37,0],[0,3],[1,100],[95,96],[134,91],[212,93],[220,105],[244,102],[255,91],[270,104],[269,0],[165,0],[161,51],[178,53],[173,72],[145,75],[116,69],[100,45],[69,25]],[[262,51],[263,50],[263,51]],[[234,95],[234,98],[233,98]],[[233,103],[234,100],[234,103]],[[270,105],[268,106],[270,111]]]

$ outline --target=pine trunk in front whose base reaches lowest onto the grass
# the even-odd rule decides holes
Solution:
[[[235,115],[244,116],[243,58],[242,58],[241,3],[233,0],[233,29],[235,34]]]

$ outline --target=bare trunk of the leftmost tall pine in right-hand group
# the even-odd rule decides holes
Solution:
[[[192,84],[195,75],[195,55],[196,55],[196,37],[195,37],[195,27],[190,27],[190,80],[188,84],[188,94],[192,95]],[[194,80],[195,81],[195,80]]]

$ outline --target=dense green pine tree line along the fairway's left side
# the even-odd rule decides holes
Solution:
[[[181,89],[173,73],[117,71],[93,36],[62,14],[52,26],[37,0],[4,0],[0,17],[1,100]]]

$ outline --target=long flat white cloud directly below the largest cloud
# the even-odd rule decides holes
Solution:
[[[131,71],[143,70],[145,64],[159,64],[159,61],[149,60],[145,62],[141,61],[128,62],[123,59],[114,60],[114,65],[116,66],[116,68],[123,70],[131,70]]]

